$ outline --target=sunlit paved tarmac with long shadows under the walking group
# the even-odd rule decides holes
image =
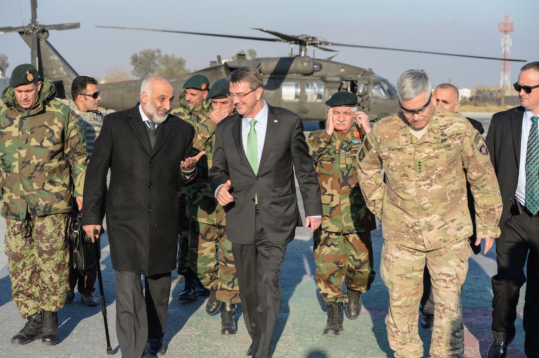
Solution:
[[[473,116],[472,116],[473,117]],[[475,117],[474,117],[475,118]],[[485,117],[486,118],[486,117]],[[476,118],[477,119],[477,118]],[[490,117],[488,117],[489,121]],[[481,120],[481,118],[480,118]],[[487,122],[485,119],[482,122]],[[487,128],[485,128],[487,131]],[[300,200],[301,206],[301,200]],[[278,223],[275,223],[278,224]],[[0,244],[4,244],[5,221],[0,219]],[[378,224],[372,232],[375,270],[379,272],[380,252],[383,243]],[[280,274],[282,300],[277,328],[273,335],[270,356],[305,358],[342,357],[391,357],[385,328],[388,312],[388,290],[379,275],[369,292],[362,295],[363,308],[355,320],[344,318],[344,331],[335,337],[322,336],[326,326],[327,310],[322,305],[315,282],[312,235],[307,228],[297,228],[295,240],[288,245],[285,262]],[[113,355],[121,352],[115,329],[114,270],[110,264],[108,237],[101,241],[101,271],[107,319]],[[465,325],[465,357],[484,357],[493,336],[492,286],[490,277],[496,273],[494,248],[487,255],[482,253],[469,259],[469,270],[462,294]],[[245,356],[251,339],[246,332],[241,306],[238,305],[236,321],[238,333],[220,334],[220,315],[205,312],[206,297],[184,303],[178,295],[184,285],[183,277],[172,272],[165,357],[198,358]],[[96,283],[96,294],[99,294]],[[516,338],[509,346],[508,356],[524,357],[524,332],[522,310],[524,289],[517,310]],[[0,254],[0,356],[16,357],[107,357],[103,316],[100,306],[87,307],[80,303],[79,293],[73,303],[58,312],[60,340],[54,346],[45,346],[40,340],[25,346],[12,345],[10,339],[23,326],[15,302],[11,300],[11,282],[7,257]],[[431,331],[419,328],[424,342],[424,355],[429,357]]]

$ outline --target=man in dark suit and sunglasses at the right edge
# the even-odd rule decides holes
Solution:
[[[494,341],[488,358],[507,356],[516,332],[520,288],[526,280],[524,353],[539,357],[539,61],[520,69],[514,87],[521,106],[496,113],[486,139],[503,200],[501,235],[496,242],[498,272],[492,278]]]

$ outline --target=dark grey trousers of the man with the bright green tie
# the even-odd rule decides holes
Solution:
[[[257,210],[252,244],[232,243],[236,261],[241,308],[247,332],[253,340],[253,357],[266,358],[281,304],[279,272],[286,244],[269,242]]]

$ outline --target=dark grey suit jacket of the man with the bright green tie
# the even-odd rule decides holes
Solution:
[[[266,137],[256,175],[241,143],[241,116],[234,114],[226,118],[215,131],[210,184],[215,192],[227,179],[232,182],[234,201],[225,207],[226,234],[235,243],[254,242],[255,193],[269,241],[274,244],[292,241],[295,227],[301,226],[294,170],[306,216],[322,214],[320,187],[300,117],[284,108],[266,106]]]

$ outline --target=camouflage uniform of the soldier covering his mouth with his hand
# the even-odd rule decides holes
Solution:
[[[206,151],[197,163],[198,179],[186,191],[190,220],[189,262],[202,284],[217,290],[217,300],[236,304],[240,302],[238,277],[232,243],[226,238],[225,210],[217,203],[208,179],[217,124],[209,117],[211,100],[202,102],[202,108],[203,113],[192,114],[186,120],[195,128],[193,147]]]

